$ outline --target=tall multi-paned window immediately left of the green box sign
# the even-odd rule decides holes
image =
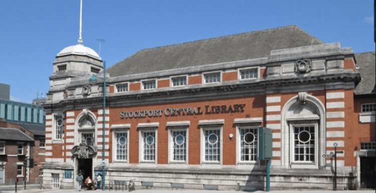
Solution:
[[[240,161],[257,161],[258,129],[240,127]]]

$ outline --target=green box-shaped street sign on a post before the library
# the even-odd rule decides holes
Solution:
[[[259,160],[266,160],[266,191],[270,191],[270,162],[273,158],[273,130],[259,126]]]

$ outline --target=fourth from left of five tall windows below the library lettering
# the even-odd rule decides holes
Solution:
[[[205,129],[205,161],[221,161],[221,130]]]

